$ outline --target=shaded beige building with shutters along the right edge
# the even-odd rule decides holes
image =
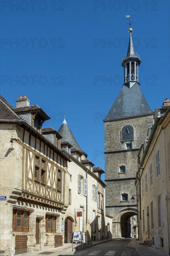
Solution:
[[[170,101],[157,108],[139,151],[139,239],[170,254]]]

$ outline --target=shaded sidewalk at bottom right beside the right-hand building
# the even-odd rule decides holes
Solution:
[[[138,240],[133,240],[128,244],[128,248],[134,248],[141,256],[167,256],[168,254],[152,246],[141,245]]]

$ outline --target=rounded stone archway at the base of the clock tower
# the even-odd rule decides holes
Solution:
[[[132,218],[135,216],[135,218]],[[126,208],[121,210],[113,220],[114,237],[135,237],[137,238],[137,209]],[[134,219],[134,220],[133,220]],[[135,229],[135,231],[134,231]]]

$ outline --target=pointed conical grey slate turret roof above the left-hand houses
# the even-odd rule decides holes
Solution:
[[[82,152],[83,155],[87,156],[87,154],[78,145],[78,142],[76,141],[76,139],[75,139],[74,135],[72,134],[72,131],[69,128],[66,121],[64,121],[62,123],[62,125],[60,126],[60,128],[58,130],[58,133],[62,136],[61,141],[68,141],[73,146],[73,148],[76,148],[78,151]],[[73,150],[73,148],[72,148],[72,150]]]

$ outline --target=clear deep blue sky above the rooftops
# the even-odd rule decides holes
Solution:
[[[105,169],[103,118],[123,85],[121,61],[129,39],[125,15],[131,15],[142,61],[141,90],[154,111],[170,97],[170,1],[0,4],[0,94],[13,106],[26,94],[31,105],[52,117],[44,127],[58,130],[65,115],[88,159]],[[111,82],[105,81],[109,77]]]

